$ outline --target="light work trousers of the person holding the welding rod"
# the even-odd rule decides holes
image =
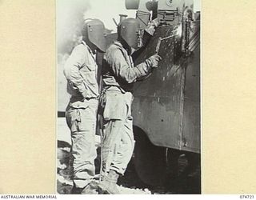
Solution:
[[[132,94],[119,90],[106,90],[103,111],[102,171],[124,174],[134,150]]]

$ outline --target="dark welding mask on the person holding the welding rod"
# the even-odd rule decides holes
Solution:
[[[128,46],[138,48],[139,23],[135,18],[126,18],[118,26],[118,34]]]

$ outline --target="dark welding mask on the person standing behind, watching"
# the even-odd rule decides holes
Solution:
[[[82,27],[82,38],[88,46],[93,44],[98,50],[106,51],[105,26],[98,19],[87,19]]]

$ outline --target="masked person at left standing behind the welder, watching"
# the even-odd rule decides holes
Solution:
[[[98,112],[98,66],[95,52],[106,51],[105,27],[98,19],[87,19],[82,28],[82,43],[74,47],[64,66],[67,91],[71,95],[66,122],[71,131],[74,157],[74,186],[71,194],[94,194],[96,158],[95,131]]]

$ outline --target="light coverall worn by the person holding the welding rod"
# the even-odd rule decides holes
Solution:
[[[134,150],[131,90],[137,78],[146,76],[150,63],[134,66],[131,56],[121,42],[114,42],[106,50],[103,66],[103,173],[115,170],[124,174]]]

